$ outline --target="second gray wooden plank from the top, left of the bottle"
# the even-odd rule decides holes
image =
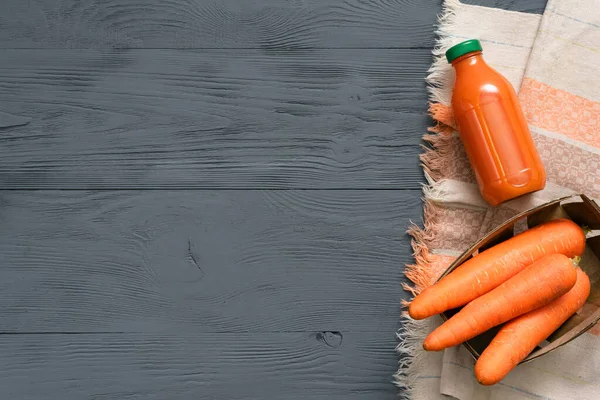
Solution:
[[[429,50],[0,54],[0,111],[30,119],[2,130],[1,188],[417,189],[423,180]]]

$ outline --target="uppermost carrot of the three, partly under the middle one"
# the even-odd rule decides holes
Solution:
[[[424,289],[408,308],[424,319],[464,306],[489,292],[546,254],[581,256],[585,234],[573,221],[556,219],[526,230],[465,261],[436,284]]]

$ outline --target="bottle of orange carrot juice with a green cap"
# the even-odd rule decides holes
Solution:
[[[446,52],[456,71],[452,110],[483,198],[492,206],[541,190],[546,172],[510,82],[485,63],[481,43]]]

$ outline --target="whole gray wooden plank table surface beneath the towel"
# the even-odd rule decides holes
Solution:
[[[2,1],[0,398],[395,398],[440,7]]]

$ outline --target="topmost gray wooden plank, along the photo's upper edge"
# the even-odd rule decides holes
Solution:
[[[545,0],[471,0],[541,12]],[[439,0],[3,0],[0,48],[432,47]]]

